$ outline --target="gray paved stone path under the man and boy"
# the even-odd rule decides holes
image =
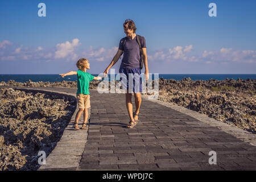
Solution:
[[[76,89],[71,88],[33,89],[76,93]],[[124,94],[99,94],[96,90],[90,90],[90,94],[89,129],[73,131],[68,126],[69,133],[64,131],[61,140],[66,139],[62,144],[69,152],[61,148],[64,151],[61,156],[54,149],[52,153],[57,159],[49,158],[50,154],[47,163],[51,165],[42,165],[40,170],[256,169],[256,147],[218,127],[143,98],[140,122],[133,129],[127,129],[129,117]],[[73,138],[69,142],[68,134]],[[80,140],[85,136],[87,140]],[[78,152],[70,152],[72,148]],[[216,165],[209,164],[209,151],[216,151]]]

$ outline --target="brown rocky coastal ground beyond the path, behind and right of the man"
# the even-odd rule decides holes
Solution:
[[[90,82],[89,89],[97,89],[100,81]],[[117,84],[117,82],[116,82]],[[9,80],[0,85],[10,86],[63,86],[76,88],[76,81],[24,83]],[[153,84],[154,85],[154,84]],[[159,79],[158,100],[171,102],[198,111],[218,121],[256,133],[256,80],[196,80],[183,78]]]

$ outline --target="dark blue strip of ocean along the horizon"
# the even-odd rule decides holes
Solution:
[[[94,75],[93,76],[98,76]],[[110,77],[110,76],[109,76]],[[182,80],[184,77],[188,78],[190,77],[191,80],[210,80],[211,78],[214,80],[225,80],[226,78],[233,78],[234,80],[237,80],[238,78],[241,78],[242,80],[245,80],[247,78],[250,78],[251,80],[256,79],[256,74],[251,74],[251,75],[245,75],[245,74],[159,74],[159,78],[164,78],[164,79],[175,79],[175,80]],[[152,75],[152,79],[154,79],[154,75]],[[64,78],[61,78],[59,75],[0,75],[0,82],[5,81],[7,82],[8,80],[14,80],[16,82],[26,82],[28,80],[31,80],[33,82],[38,82],[38,81],[49,81],[49,82],[55,82],[55,81],[76,81],[77,76],[72,75],[72,76],[67,76]]]

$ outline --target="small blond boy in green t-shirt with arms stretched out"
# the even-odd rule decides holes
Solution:
[[[88,119],[88,108],[90,107],[90,93],[89,93],[89,82],[92,80],[101,80],[100,76],[92,76],[90,73],[86,73],[87,69],[90,69],[90,64],[87,59],[81,58],[76,63],[79,71],[68,72],[65,74],[60,74],[61,77],[68,75],[77,75],[77,104],[79,105],[79,111],[76,114],[76,119],[73,125],[73,129],[79,130],[78,121],[82,112],[84,112],[84,122],[82,123],[82,129],[87,129],[87,119]]]

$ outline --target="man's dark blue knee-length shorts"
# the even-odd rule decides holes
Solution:
[[[132,87],[133,92],[142,92],[141,68],[119,68],[119,73],[123,73],[125,75],[124,77],[120,77],[120,81],[122,83],[123,88],[131,90]],[[133,79],[133,86],[131,87],[129,86],[129,73],[130,78]]]

